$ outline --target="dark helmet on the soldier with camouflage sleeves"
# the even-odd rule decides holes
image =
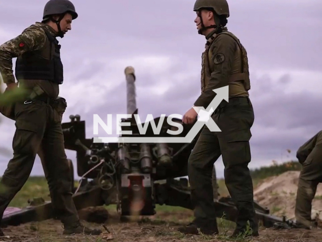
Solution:
[[[68,0],[49,0],[44,8],[43,19],[48,19],[53,14],[70,13],[72,19],[76,19],[78,14],[75,11],[74,5]]]

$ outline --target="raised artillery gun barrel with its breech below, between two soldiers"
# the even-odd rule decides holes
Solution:
[[[135,128],[132,129],[135,127],[134,115],[138,113],[135,99],[134,68],[127,67],[124,73],[126,77],[127,114],[131,115],[130,130],[132,135],[140,136]],[[122,163],[123,168],[120,193],[121,214],[153,215],[155,213],[155,200],[150,145],[146,143],[121,143],[117,151],[117,159]],[[133,207],[137,209],[133,210]]]

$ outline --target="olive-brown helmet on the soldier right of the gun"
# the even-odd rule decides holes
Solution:
[[[226,0],[196,0],[193,11],[197,12],[203,8],[213,9],[217,15],[229,17],[229,7]]]

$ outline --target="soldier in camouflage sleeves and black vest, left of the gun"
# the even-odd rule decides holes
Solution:
[[[71,22],[76,18],[70,1],[50,0],[41,23],[36,22],[0,46],[0,73],[7,89],[23,86],[28,92],[24,100],[14,105],[14,157],[0,181],[0,218],[24,186],[38,154],[55,215],[63,223],[63,234],[100,234],[101,230],[89,229],[79,222],[61,127],[66,102],[58,98],[63,66],[56,37],[63,37],[71,30]],[[12,70],[14,57],[17,57],[15,75],[19,87]],[[0,235],[3,235],[1,230]]]

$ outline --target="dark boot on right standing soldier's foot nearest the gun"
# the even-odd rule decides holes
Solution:
[[[218,227],[216,219],[206,222],[200,222],[195,219],[192,223],[188,224],[187,226],[179,227],[178,231],[185,233],[185,234],[199,234],[199,230],[203,234],[207,235],[215,235],[218,234]]]

